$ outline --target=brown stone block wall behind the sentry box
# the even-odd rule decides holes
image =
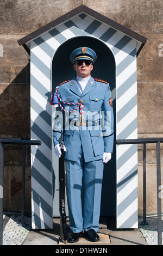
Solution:
[[[138,136],[162,137],[162,0],[1,1],[0,137],[30,138],[30,81],[27,52],[18,39],[84,4],[145,36],[137,58]],[[161,147],[162,150],[162,147]],[[22,149],[5,145],[4,211],[20,211]],[[30,148],[26,162],[26,212],[30,212]],[[147,213],[156,212],[155,145],[147,146]],[[142,215],[142,147],[139,146],[139,214]]]

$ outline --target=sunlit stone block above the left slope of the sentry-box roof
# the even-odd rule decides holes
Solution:
[[[1,1],[1,33],[29,34],[82,4],[83,0]]]

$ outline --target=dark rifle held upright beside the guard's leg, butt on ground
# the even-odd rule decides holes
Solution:
[[[67,225],[65,214],[65,159],[64,159],[64,143],[62,141],[62,132],[60,136],[61,156],[59,158],[59,209],[60,209],[60,238],[67,243]]]

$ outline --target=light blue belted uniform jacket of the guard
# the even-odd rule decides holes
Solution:
[[[112,152],[114,115],[109,84],[98,78],[90,77],[83,93],[81,93],[76,77],[74,77],[73,80],[61,83],[58,93],[60,103],[67,112],[60,106],[56,109],[53,141],[54,146],[60,144],[62,129],[66,147],[65,159],[77,161],[81,146],[83,147],[85,162],[102,159],[104,152]],[[77,102],[83,105],[83,125],[81,125],[79,117],[80,107],[71,104]],[[52,105],[54,103],[53,101]],[[74,109],[77,110],[74,111]]]

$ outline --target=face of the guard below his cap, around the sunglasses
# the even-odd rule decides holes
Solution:
[[[78,65],[77,62],[73,65],[74,70],[77,72],[77,76],[86,78],[90,77],[91,71],[93,69],[92,63],[90,65],[85,64],[85,60],[82,60],[82,65]]]

